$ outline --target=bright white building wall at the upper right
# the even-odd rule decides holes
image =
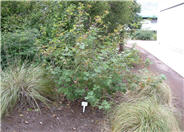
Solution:
[[[158,25],[158,42],[184,55],[184,4],[160,12]]]

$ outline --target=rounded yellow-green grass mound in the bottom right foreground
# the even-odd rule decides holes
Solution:
[[[112,132],[179,132],[170,109],[154,99],[122,103],[112,115]]]

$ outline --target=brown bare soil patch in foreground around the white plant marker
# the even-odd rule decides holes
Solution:
[[[100,132],[104,114],[87,107],[82,113],[80,102],[59,104],[51,110],[16,110],[2,119],[2,132]]]

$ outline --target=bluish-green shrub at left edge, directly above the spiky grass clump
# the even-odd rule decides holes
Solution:
[[[38,56],[36,56],[38,49],[34,44],[38,35],[39,32],[36,29],[3,34],[1,48],[2,68],[11,65],[16,58],[19,58],[22,62],[32,62],[38,59]]]

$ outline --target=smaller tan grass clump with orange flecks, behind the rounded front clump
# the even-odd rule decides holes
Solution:
[[[154,75],[148,71],[140,71],[138,73],[140,80],[137,87],[127,93],[129,101],[144,100],[153,97],[159,104],[167,104],[171,106],[171,90],[164,82],[164,75]]]

